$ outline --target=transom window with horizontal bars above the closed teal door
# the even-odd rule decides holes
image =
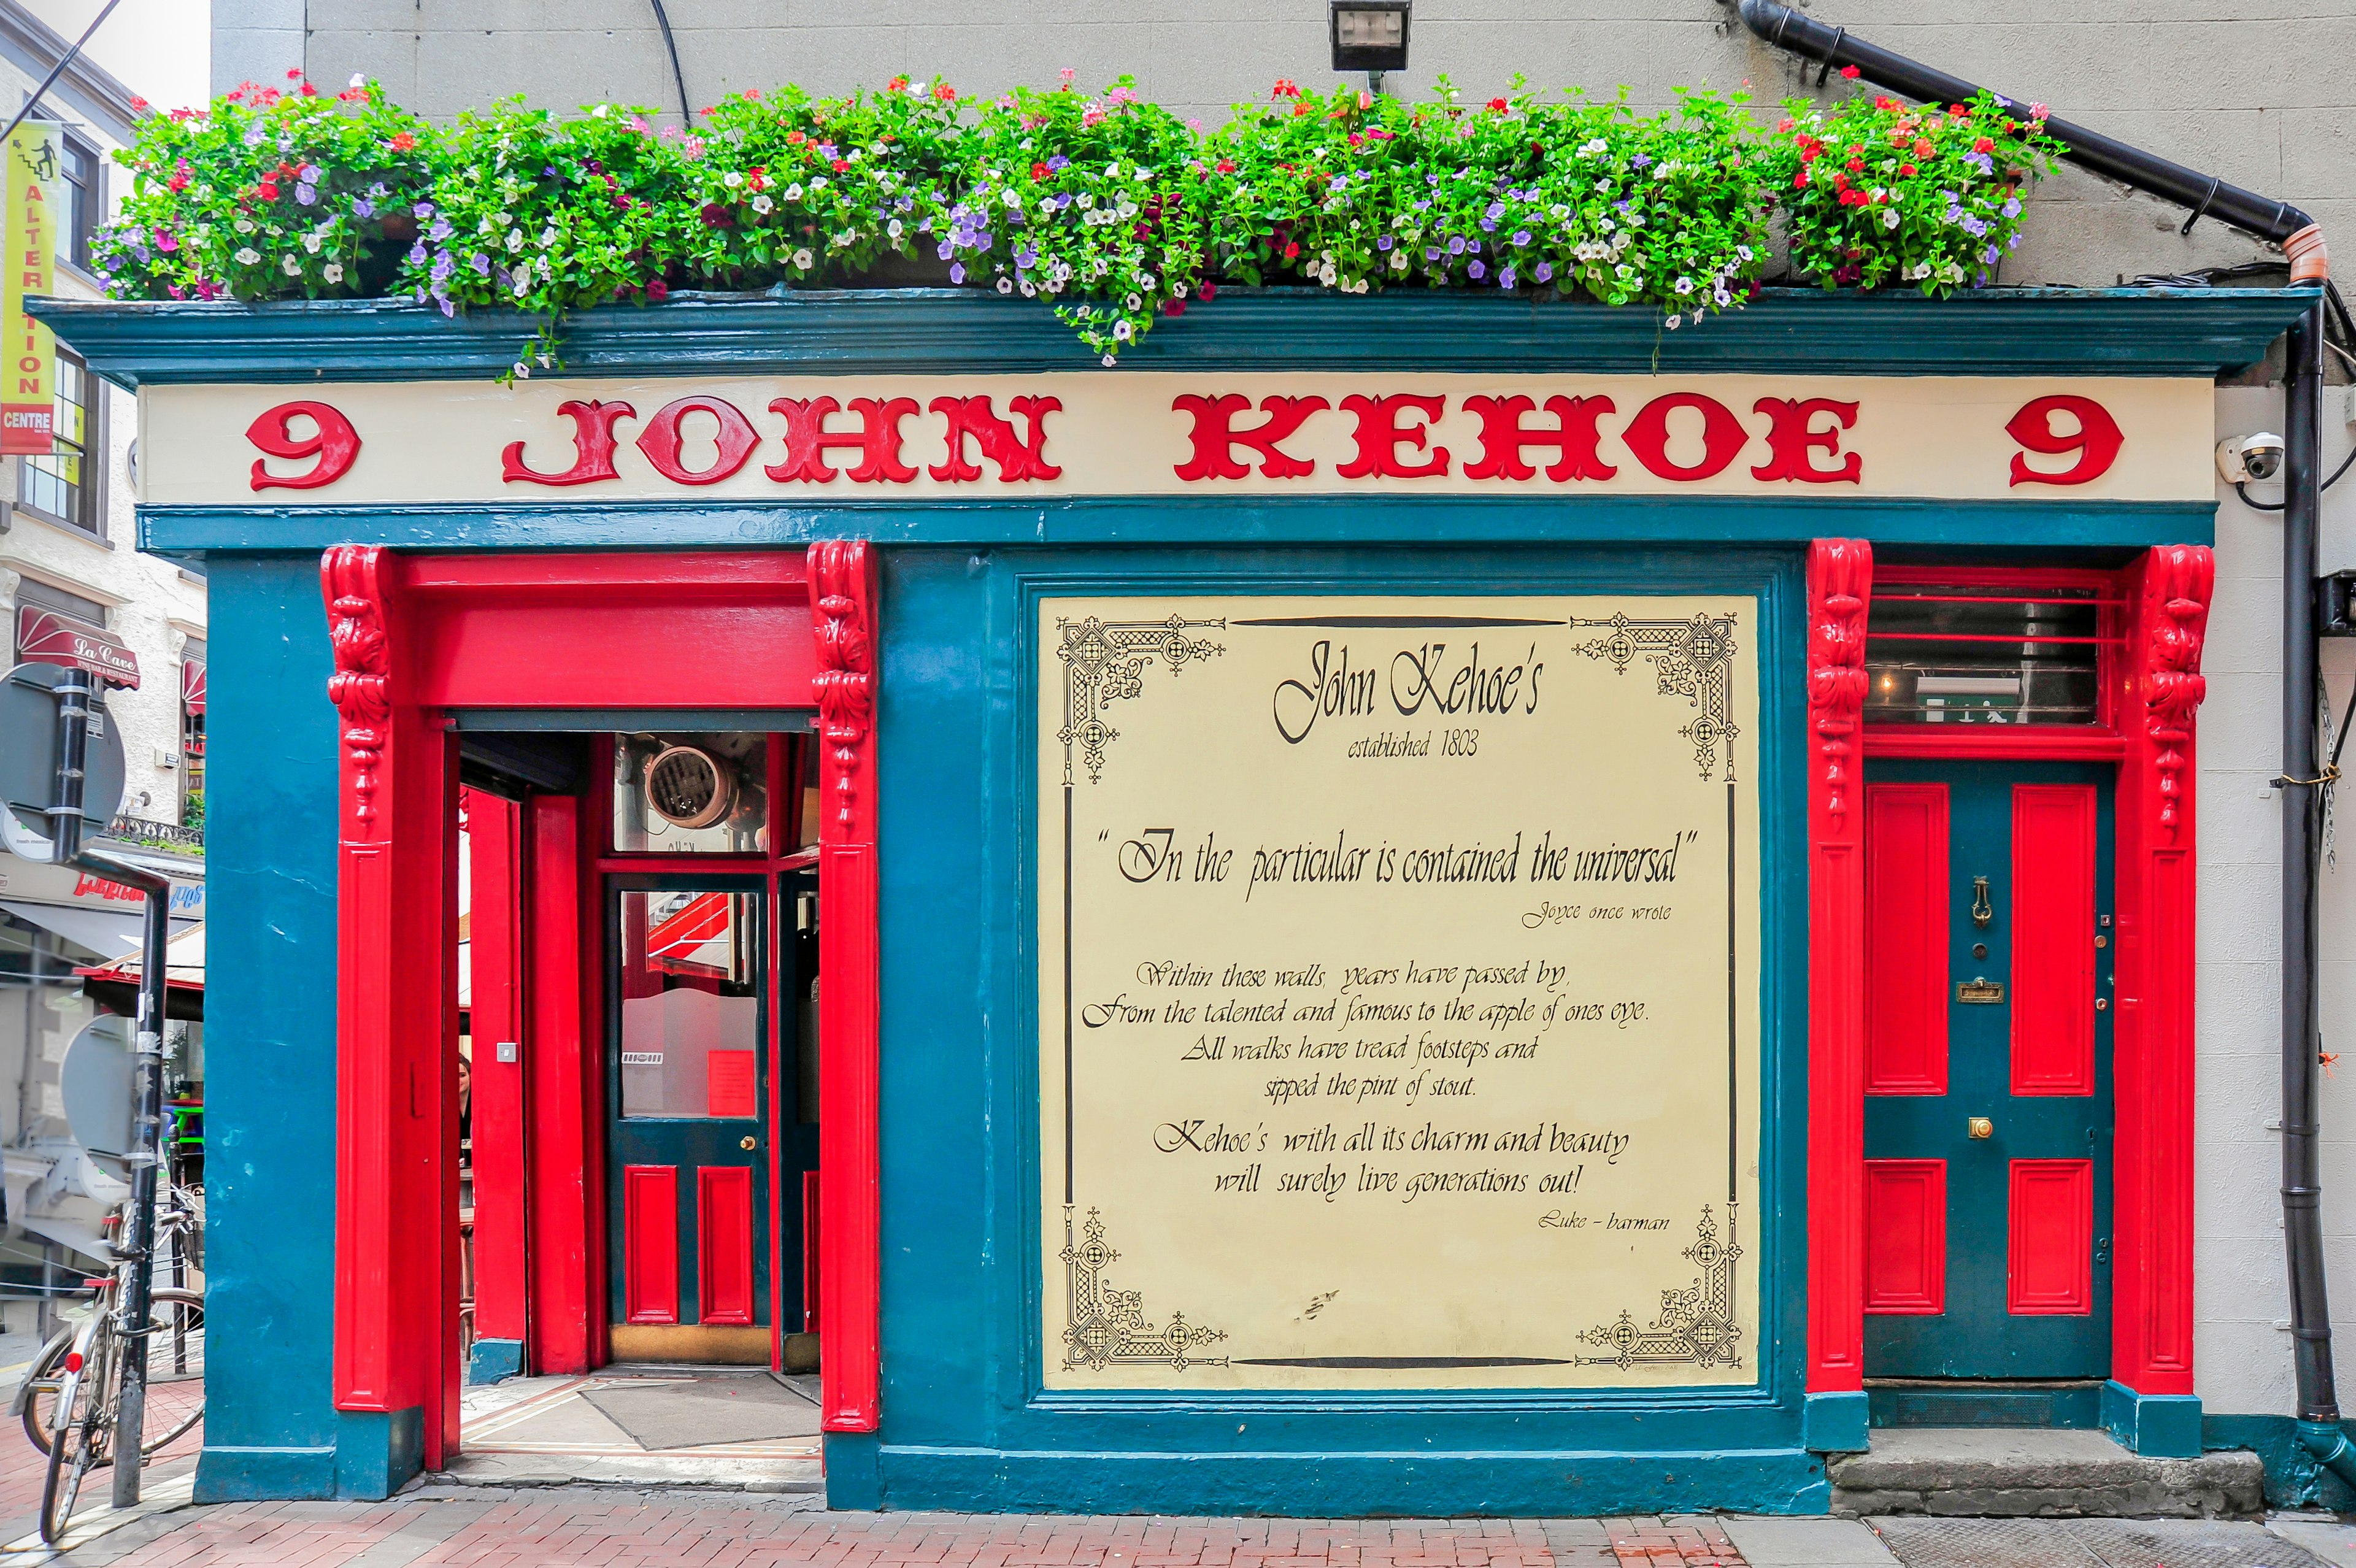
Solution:
[[[1866,723],[2097,725],[2102,584],[1875,582]]]

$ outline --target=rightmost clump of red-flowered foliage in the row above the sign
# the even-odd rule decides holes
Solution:
[[[1786,104],[1767,155],[1791,214],[1791,259],[1824,287],[1986,283],[2021,242],[2024,186],[2062,144],[2045,106],[2014,120],[1991,94],[1918,106],[1857,94],[1824,113]]]

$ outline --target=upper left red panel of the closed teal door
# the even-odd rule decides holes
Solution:
[[[1866,1092],[1946,1092],[1946,784],[1866,786]]]

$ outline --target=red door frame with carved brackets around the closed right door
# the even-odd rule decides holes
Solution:
[[[2116,1283],[2111,1380],[2193,1391],[2193,713],[2215,560],[2146,551],[2120,572],[1882,567],[1859,539],[1809,546],[1809,1394],[1864,1389],[1866,756],[2116,760]],[[2097,586],[2097,723],[1930,732],[1864,725],[1875,584]]]

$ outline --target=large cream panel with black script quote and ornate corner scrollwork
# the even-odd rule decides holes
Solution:
[[[1046,1387],[1758,1382],[1758,643],[1039,603]]]

